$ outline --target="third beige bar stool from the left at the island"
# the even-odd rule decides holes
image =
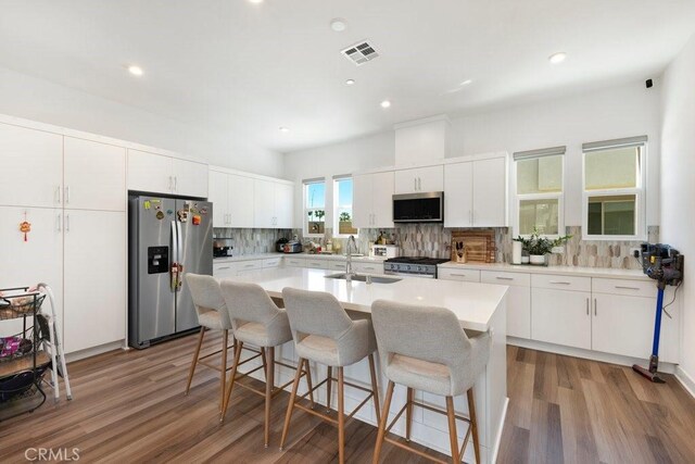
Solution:
[[[319,388],[327,384],[328,397],[326,406],[330,411],[331,401],[331,383],[338,383],[338,418],[334,419],[328,415],[313,411],[300,403],[296,403],[296,390],[301,379],[301,373],[298,371],[292,385],[292,393],[290,403],[287,407],[285,417],[285,427],[282,429],[282,439],[280,440],[280,450],[285,446],[290,422],[292,419],[292,411],[299,407],[309,414],[316,415],[324,421],[338,425],[338,453],[339,462],[343,463],[344,444],[345,444],[345,411],[344,411],[344,386],[349,385],[353,388],[369,393],[367,398],[348,415],[352,418],[355,413],[364,406],[369,399],[374,399],[377,421],[379,421],[379,390],[377,388],[377,376],[374,363],[374,352],[377,349],[376,339],[371,323],[368,319],[353,321],[348,316],[345,310],[340,302],[330,293],[320,291],[305,291],[292,288],[282,290],[282,299],[285,308],[290,317],[290,326],[292,328],[292,338],[296,353],[300,356],[300,364],[313,361],[325,364],[328,367],[328,375],[324,381],[312,388],[308,384],[308,391]],[[369,374],[371,376],[371,389],[364,388],[358,385],[350,384],[343,378],[343,367],[357,363],[358,361],[369,359]],[[332,377],[332,368],[337,367],[338,379]],[[307,380],[309,377],[307,377]],[[300,397],[304,399],[306,397]]]

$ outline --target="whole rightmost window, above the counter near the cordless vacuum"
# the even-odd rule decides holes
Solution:
[[[646,136],[584,143],[585,240],[645,238]]]

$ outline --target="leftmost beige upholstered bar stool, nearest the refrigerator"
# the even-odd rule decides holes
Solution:
[[[195,352],[193,353],[193,361],[191,362],[191,368],[188,373],[188,383],[186,384],[186,393],[190,391],[191,381],[193,380],[193,374],[195,373],[195,366],[200,363],[206,367],[220,372],[219,376],[219,411],[223,409],[225,399],[225,378],[227,375],[227,350],[233,347],[228,347],[229,330],[231,329],[231,322],[229,321],[229,313],[227,312],[227,305],[219,291],[219,284],[213,276],[199,275],[199,274],[186,274],[186,284],[191,291],[193,299],[193,305],[198,313],[198,324],[200,325],[200,337],[198,338],[198,344],[195,346]],[[203,344],[203,338],[205,337],[205,329],[222,330],[222,350],[215,351],[199,358],[200,348]],[[215,366],[208,364],[205,360],[222,352],[222,365]]]

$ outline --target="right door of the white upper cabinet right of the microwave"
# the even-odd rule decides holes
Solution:
[[[504,158],[473,162],[473,225],[507,226],[507,163]]]

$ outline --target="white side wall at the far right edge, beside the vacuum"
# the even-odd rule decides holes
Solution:
[[[662,78],[661,241],[685,254],[681,368],[695,381],[695,36]],[[688,272],[690,271],[690,272]]]

